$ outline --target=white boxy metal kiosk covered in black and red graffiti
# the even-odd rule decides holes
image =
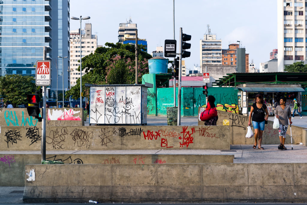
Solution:
[[[142,98],[147,96],[141,86],[91,87],[90,123],[141,124],[146,118],[146,110],[141,108],[147,107]]]

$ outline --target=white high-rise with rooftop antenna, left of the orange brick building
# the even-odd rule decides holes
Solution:
[[[216,35],[210,32],[200,39],[200,67],[208,65],[222,65],[222,40],[216,39]]]

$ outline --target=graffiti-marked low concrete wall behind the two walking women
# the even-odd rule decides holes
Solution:
[[[199,113],[201,114],[205,108],[199,107]],[[251,145],[255,142],[255,138],[245,138],[247,133],[248,126],[248,116],[224,112],[221,110],[217,111],[219,119],[216,123],[217,126],[231,126],[231,144],[232,145]],[[204,122],[201,121],[198,117],[198,125],[204,125]],[[254,131],[254,127],[251,126]],[[303,128],[298,126],[292,126],[292,143],[299,144],[303,142],[306,145],[305,141],[302,139],[302,130]],[[254,132],[255,133],[255,132]],[[262,135],[262,144],[266,145],[278,145],[279,141],[279,133],[278,129],[273,129],[273,122],[268,121],[268,124],[265,125],[263,135]],[[285,144],[291,144],[291,135],[290,135],[290,127],[286,133],[286,141]]]

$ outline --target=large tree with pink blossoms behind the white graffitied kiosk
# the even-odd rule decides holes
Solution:
[[[95,53],[82,58],[82,68],[85,75],[82,76],[82,91],[84,83],[90,84],[133,84],[135,82],[135,47],[130,44],[106,43],[106,47],[99,47]],[[148,59],[152,58],[145,51],[144,45],[138,45],[138,82],[142,75],[149,73]],[[80,66],[78,68],[80,72]],[[86,91],[84,95],[88,95]],[[66,92],[65,98],[72,95],[73,99],[80,97],[80,79],[76,85]]]

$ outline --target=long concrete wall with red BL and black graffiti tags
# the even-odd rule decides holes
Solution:
[[[46,150],[230,149],[230,126],[53,126]],[[1,127],[0,150],[41,150],[41,128]]]

